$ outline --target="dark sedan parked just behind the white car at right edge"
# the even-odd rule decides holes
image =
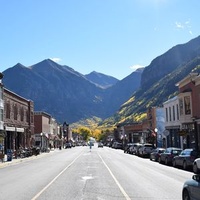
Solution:
[[[194,160],[198,158],[198,152],[193,149],[184,149],[178,156],[173,158],[174,167],[182,167],[183,169],[192,168]]]

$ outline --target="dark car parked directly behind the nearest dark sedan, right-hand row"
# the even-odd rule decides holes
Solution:
[[[159,163],[165,163],[166,165],[172,164],[174,156],[179,155],[181,151],[181,148],[168,147],[163,153],[160,154],[158,161]]]

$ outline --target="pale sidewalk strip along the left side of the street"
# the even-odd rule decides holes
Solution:
[[[49,155],[51,153],[54,153],[55,151],[58,151],[58,150],[55,149],[53,151],[50,151],[49,153],[40,153],[37,156],[33,155],[33,156],[30,156],[30,157],[25,157],[25,158],[13,158],[12,161],[0,162],[0,169],[7,167],[7,166],[16,165],[16,164],[19,164],[19,163],[22,163],[22,162],[26,162],[26,161],[29,161],[29,160],[38,159],[38,158],[44,157],[46,155]]]

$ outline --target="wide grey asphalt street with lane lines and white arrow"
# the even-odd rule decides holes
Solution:
[[[0,168],[1,200],[181,200],[193,173],[109,147],[55,150]]]

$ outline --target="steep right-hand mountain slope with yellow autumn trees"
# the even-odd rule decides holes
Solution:
[[[171,48],[145,67],[140,88],[106,123],[137,121],[147,108],[162,106],[178,93],[175,84],[192,71],[200,73],[200,37]]]

